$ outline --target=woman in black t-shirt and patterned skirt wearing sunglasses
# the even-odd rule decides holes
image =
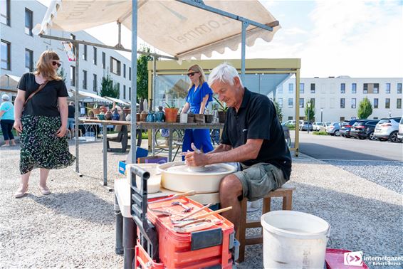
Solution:
[[[47,195],[50,169],[73,164],[65,137],[68,117],[67,88],[56,71],[60,58],[53,51],[44,51],[35,73],[25,73],[19,81],[15,104],[14,128],[21,133],[21,186],[14,196],[21,198],[28,191],[31,171],[39,168],[39,191]]]

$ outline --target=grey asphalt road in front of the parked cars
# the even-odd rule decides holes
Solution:
[[[312,135],[306,132],[300,132],[300,152],[315,159],[403,161],[403,143]]]

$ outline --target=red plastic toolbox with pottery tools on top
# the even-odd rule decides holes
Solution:
[[[157,199],[150,199],[150,201],[154,200]],[[171,206],[173,201],[180,201],[186,206],[193,206],[193,211],[203,206],[186,197],[149,205],[147,218],[157,228],[160,262],[164,263],[166,268],[206,268],[213,265],[219,265],[221,268],[232,268],[229,246],[230,238],[233,240],[231,233],[234,233],[234,224],[217,214],[206,218],[222,221],[219,225],[192,233],[177,233],[173,229],[169,216],[157,214],[150,210],[150,208],[164,208],[181,212],[183,210],[181,206]],[[211,210],[204,209],[197,215],[208,212]],[[216,234],[219,236],[214,236]],[[213,242],[220,236],[222,238],[221,243]],[[198,244],[199,242],[201,244]],[[197,245],[199,247],[195,247]]]

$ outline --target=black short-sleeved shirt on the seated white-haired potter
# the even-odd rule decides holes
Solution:
[[[283,171],[286,179],[290,178],[291,154],[276,108],[267,96],[252,93],[245,88],[238,112],[234,107],[229,107],[226,112],[221,144],[236,148],[246,144],[247,139],[263,139],[263,144],[258,157],[243,164],[248,167],[259,162],[273,164]]]

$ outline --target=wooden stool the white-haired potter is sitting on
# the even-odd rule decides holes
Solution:
[[[281,188],[271,191],[263,198],[262,215],[271,211],[271,198],[283,197],[283,210],[291,210],[293,203],[293,190],[294,186],[291,184],[283,184]],[[245,259],[245,246],[256,245],[263,243],[263,229],[261,235],[246,237],[247,228],[261,228],[261,220],[246,221],[246,209],[248,207],[248,199],[244,198],[241,201],[241,221],[239,223],[238,231],[236,231],[236,239],[239,241],[239,258],[238,262],[242,263]]]

